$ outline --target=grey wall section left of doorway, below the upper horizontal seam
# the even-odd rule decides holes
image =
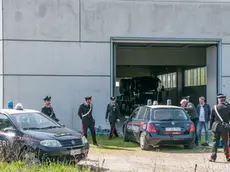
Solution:
[[[110,96],[109,44],[7,41],[4,50],[5,104],[13,100],[40,110],[51,95],[61,122],[79,129],[77,108],[92,95],[97,125],[104,123],[99,119]]]

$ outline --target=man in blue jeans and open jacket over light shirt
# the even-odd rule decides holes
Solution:
[[[198,116],[199,116],[199,121],[198,121],[198,124],[197,124],[198,144],[200,145],[201,130],[204,127],[205,141],[206,141],[206,144],[209,145],[208,122],[210,121],[211,108],[210,108],[209,104],[205,103],[205,98],[204,97],[200,97],[199,102],[200,102],[200,104],[197,105],[197,113],[198,113]]]

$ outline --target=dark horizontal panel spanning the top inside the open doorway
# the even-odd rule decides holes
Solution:
[[[117,65],[205,66],[205,48],[119,48]],[[165,60],[167,59],[167,60]]]

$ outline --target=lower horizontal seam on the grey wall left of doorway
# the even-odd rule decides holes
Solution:
[[[110,77],[110,75],[2,74],[3,76]]]

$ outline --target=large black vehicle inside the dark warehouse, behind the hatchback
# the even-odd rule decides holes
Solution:
[[[162,103],[164,87],[157,77],[142,76],[120,80],[120,96],[117,97],[122,114],[131,114],[138,106],[145,105],[148,99]]]

